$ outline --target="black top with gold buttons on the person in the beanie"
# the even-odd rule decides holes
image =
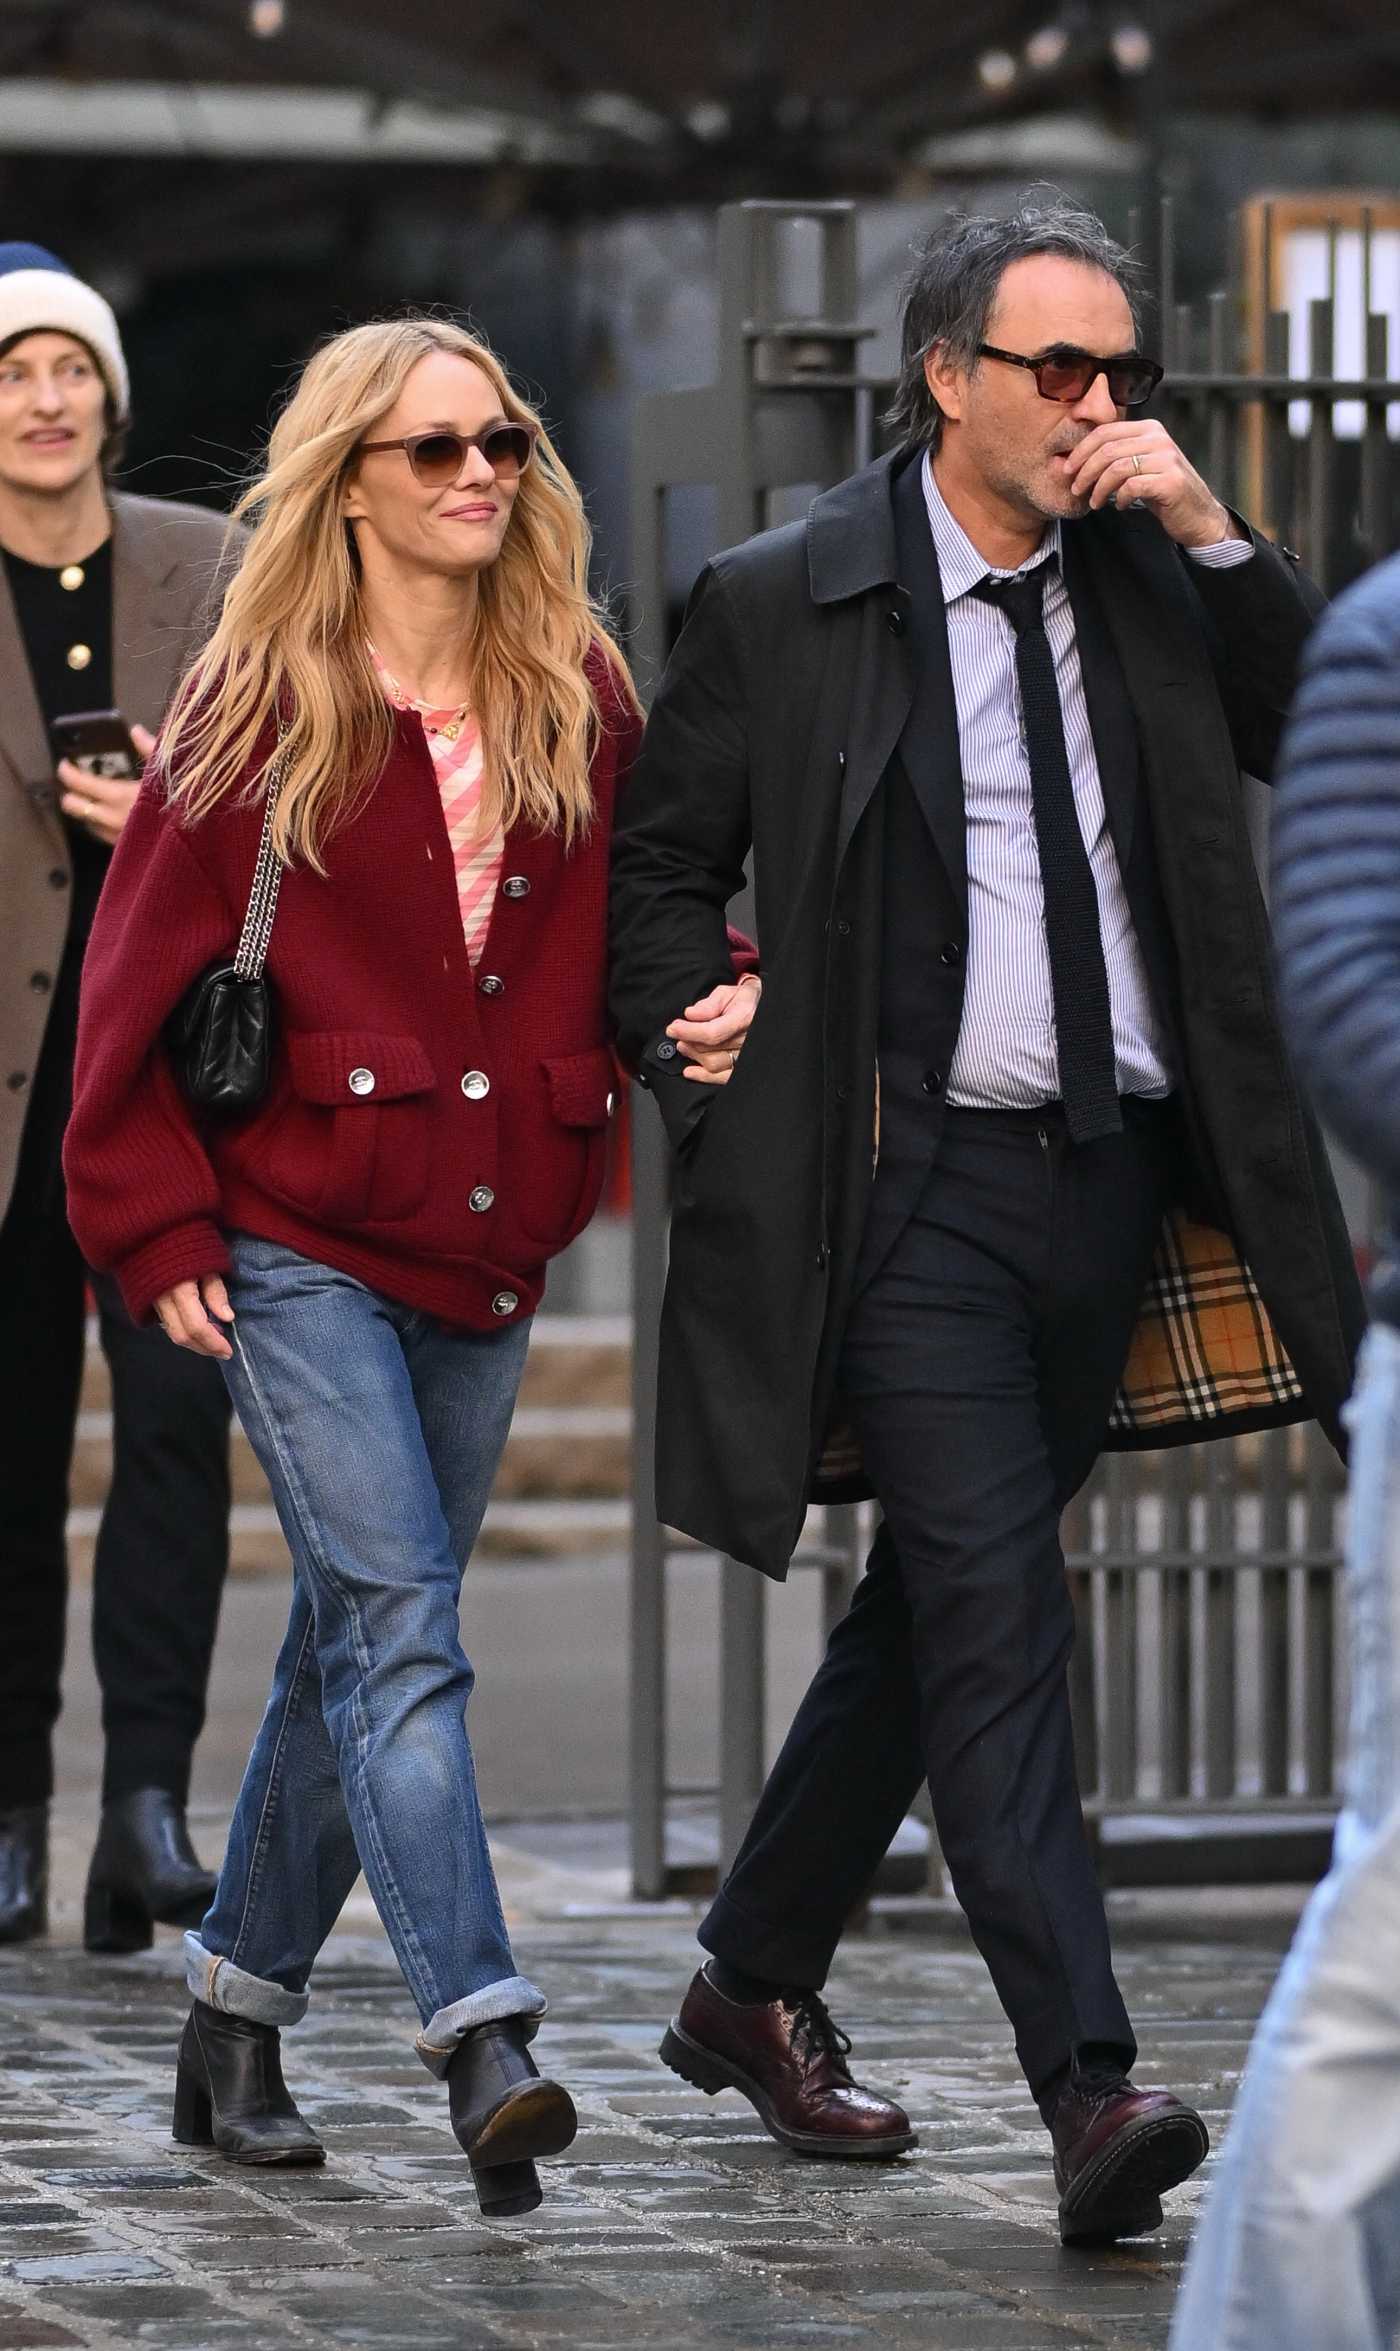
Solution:
[[[0,550],[19,635],[28,654],[33,689],[52,734],[59,717],[75,710],[111,710],[113,705],[113,550],[111,538],[80,564],[28,564],[9,548]],[[64,588],[64,576],[82,574]],[[75,668],[73,647],[87,647],[89,658]],[[0,679],[2,691],[2,679]],[[78,983],[82,952],[96,898],[111,863],[87,825],[64,816],[73,858],[73,898],[64,962],[54,976],[54,1002],[45,1025],[40,1065],[33,1072],[28,1117],[14,1178],[12,1215],[61,1215],[64,1173],[59,1147],[73,1098],[73,1044],[78,1037]]]

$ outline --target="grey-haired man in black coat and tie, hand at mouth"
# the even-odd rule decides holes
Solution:
[[[1129,2081],[1059,1514],[1104,1446],[1336,1429],[1360,1333],[1240,795],[1318,597],[1158,381],[1096,219],[939,228],[899,447],[706,567],[614,868],[678,1145],[659,1512],[781,1578],[812,1498],[882,1507],[664,2057],[805,2154],[913,2144],[821,1984],[927,1777],[1066,2243],[1158,2226],[1207,2132]]]

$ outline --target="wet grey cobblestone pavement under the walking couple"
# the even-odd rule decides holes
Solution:
[[[292,2088],[329,2144],[322,2172],[172,2146],[174,1937],[96,1961],[61,1914],[68,1940],[0,1951],[0,2351],[1165,2344],[1198,2191],[1169,2198],[1158,2238],[1059,2248],[1047,2139],[958,1930],[896,1921],[849,1937],[833,2010],[859,2067],[908,2102],[920,2146],[824,2165],[659,2064],[694,1911],[626,1909],[508,1848],[501,1864],[520,1961],[553,2001],[539,2050],[584,2118],[546,2168],[544,2208],[518,2222],[475,2210],[362,1895],[285,2036]],[[1174,1930],[1195,1940],[1162,1940],[1162,1918],[1118,1937],[1139,2081],[1169,2081],[1219,2132],[1280,1928]]]

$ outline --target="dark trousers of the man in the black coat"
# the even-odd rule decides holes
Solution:
[[[1038,2095],[1085,2043],[1136,2055],[1068,1714],[1059,1514],[1104,1441],[1179,1164],[1172,1105],[1071,1145],[1059,1110],[948,1110],[840,1385],[885,1523],[701,1944],[826,1980],[922,1777]]]

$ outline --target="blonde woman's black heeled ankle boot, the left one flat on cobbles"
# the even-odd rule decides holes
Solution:
[[[325,2163],[325,2146],[282,2081],[275,2024],[195,2001],[174,2069],[179,2146],[216,2146],[231,2163]]]

